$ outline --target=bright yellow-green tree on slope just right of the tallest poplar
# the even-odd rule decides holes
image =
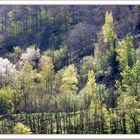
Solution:
[[[116,47],[117,61],[119,62],[120,71],[125,70],[127,67],[132,67],[135,61],[135,50],[133,47],[133,37],[127,35],[124,39],[118,42]]]

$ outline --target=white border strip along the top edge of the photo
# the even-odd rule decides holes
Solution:
[[[140,5],[140,0],[0,0],[0,5]]]

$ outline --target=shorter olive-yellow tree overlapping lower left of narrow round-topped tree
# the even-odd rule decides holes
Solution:
[[[30,112],[48,111],[48,99],[44,77],[40,73],[35,73],[34,85],[28,96],[28,108]]]

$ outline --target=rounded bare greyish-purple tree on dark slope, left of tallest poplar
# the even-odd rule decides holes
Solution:
[[[91,30],[90,26],[86,23],[78,23],[70,31],[68,36],[68,50],[70,63],[77,62],[79,57],[84,56],[84,52],[88,51],[91,45]],[[86,53],[90,53],[86,52]],[[85,53],[85,54],[86,54]]]

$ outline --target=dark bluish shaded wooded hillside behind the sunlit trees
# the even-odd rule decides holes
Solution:
[[[92,35],[88,45],[91,48],[104,22],[105,12],[110,10],[114,15],[119,38],[129,32],[140,32],[138,6],[0,6],[0,33],[4,35],[0,46],[6,50],[3,52],[12,51],[15,45],[26,48],[30,44],[37,44],[41,51],[57,49],[61,44],[67,43],[75,26],[85,23],[88,25],[87,30],[90,27]],[[13,24],[17,27],[13,28]],[[85,34],[87,30],[84,31]],[[74,44],[69,40],[69,45],[78,49],[76,39],[78,36]],[[90,48],[82,56],[89,55]]]

